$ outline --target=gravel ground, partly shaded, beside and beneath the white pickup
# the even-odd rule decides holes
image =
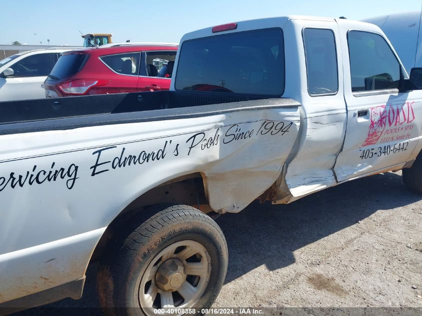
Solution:
[[[405,189],[400,172],[290,205],[253,203],[217,223],[227,239],[229,268],[214,307],[411,307],[422,313],[422,201]],[[49,308],[74,314],[69,307],[92,308],[75,315],[103,315],[95,269],[88,269],[81,300],[16,316],[51,314]]]

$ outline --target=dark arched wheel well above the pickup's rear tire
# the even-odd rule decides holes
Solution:
[[[137,197],[114,218],[97,243],[91,261],[101,257],[107,243],[120,230],[119,228],[133,224],[140,225],[141,223],[133,222],[138,220],[137,218],[143,210],[163,203],[185,204],[193,206],[203,213],[212,212],[200,173],[181,176],[162,183]]]

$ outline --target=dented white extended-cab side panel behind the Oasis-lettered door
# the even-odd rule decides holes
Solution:
[[[303,29],[307,27],[330,29],[334,34],[338,75],[338,91],[335,93],[327,94],[325,90],[321,90],[319,94],[311,95],[312,91],[309,92],[308,76],[315,71],[315,64],[307,68],[303,38],[297,36],[297,34],[302,34]],[[286,83],[286,90],[289,93],[299,94],[293,95],[303,105],[301,107],[303,119],[295,152],[289,157],[285,166],[285,181],[283,182],[282,179],[280,183],[279,199],[273,203],[289,203],[312,192],[335,185],[333,166],[346,133],[346,103],[342,93],[344,89],[342,49],[337,23],[334,20],[293,20],[286,25],[286,33],[290,28],[293,28],[293,33],[296,34],[294,39],[290,39],[290,43],[295,41],[296,46],[292,48],[289,45],[286,49],[286,57],[296,62],[296,64],[290,64],[294,67],[290,73],[300,74],[300,76],[295,85],[289,85],[289,80]],[[294,58],[295,56],[299,58]]]

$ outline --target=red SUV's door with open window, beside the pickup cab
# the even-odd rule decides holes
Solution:
[[[142,52],[138,91],[170,89],[176,52],[176,50]]]

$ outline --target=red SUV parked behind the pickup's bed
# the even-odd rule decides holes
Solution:
[[[46,97],[168,90],[174,44],[108,44],[62,53],[44,81]]]

